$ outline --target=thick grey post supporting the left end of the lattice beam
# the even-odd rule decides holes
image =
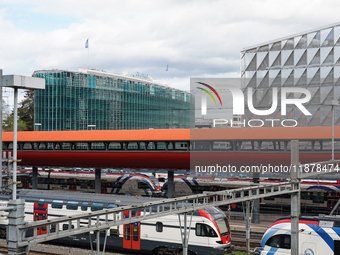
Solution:
[[[25,225],[25,200],[10,200],[8,206],[16,209],[10,210],[8,213],[8,254],[28,254],[28,246],[19,247],[19,242],[23,238],[23,233],[19,232],[19,227]]]

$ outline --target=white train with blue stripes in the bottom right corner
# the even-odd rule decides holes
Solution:
[[[299,220],[299,254],[339,255],[340,218],[303,217]],[[280,218],[264,233],[254,255],[290,255],[291,221]]]

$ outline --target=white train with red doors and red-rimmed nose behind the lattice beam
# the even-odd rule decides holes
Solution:
[[[2,205],[4,206],[4,204]],[[25,204],[25,220],[28,222],[53,219],[61,216],[81,214],[86,211],[112,208],[115,205],[55,200],[46,204],[43,200],[38,203]],[[139,212],[141,213],[141,212]],[[124,217],[129,217],[124,213]],[[133,216],[132,216],[133,217]],[[183,216],[181,215],[183,224]],[[190,217],[190,216],[189,216]],[[112,219],[113,220],[113,219]],[[72,222],[76,224],[76,221]],[[6,215],[0,217],[0,235],[4,237],[7,225]],[[56,231],[52,226],[51,232]],[[67,230],[69,224],[60,224],[60,230]],[[46,228],[38,229],[38,235],[47,233]],[[30,235],[31,233],[27,233]],[[107,235],[106,250],[122,250],[133,253],[147,254],[182,254],[182,240],[178,215],[159,217],[131,224],[112,227],[109,231],[101,231],[101,245]],[[92,241],[95,240],[92,237]],[[72,235],[55,240],[63,245],[80,245],[90,247],[89,234]],[[230,243],[230,227],[225,214],[218,208],[212,207],[193,213],[189,238],[189,255],[224,255],[231,253],[234,247]]]

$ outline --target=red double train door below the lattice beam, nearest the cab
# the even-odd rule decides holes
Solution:
[[[138,212],[138,215],[140,215],[140,212]],[[124,212],[124,218],[128,217],[128,212]],[[123,225],[123,248],[140,250],[140,222]]]

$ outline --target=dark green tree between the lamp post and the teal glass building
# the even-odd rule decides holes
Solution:
[[[34,90],[25,91],[24,99],[18,105],[18,119],[26,123],[26,130],[34,131]]]

